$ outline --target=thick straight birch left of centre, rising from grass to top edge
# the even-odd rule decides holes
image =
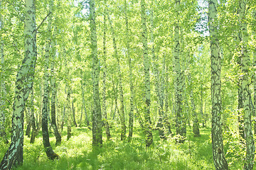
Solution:
[[[92,91],[93,91],[93,110],[92,110],[92,145],[102,147],[102,113],[100,108],[99,77],[100,66],[97,57],[97,33],[95,1],[90,0],[90,38],[92,50]]]

